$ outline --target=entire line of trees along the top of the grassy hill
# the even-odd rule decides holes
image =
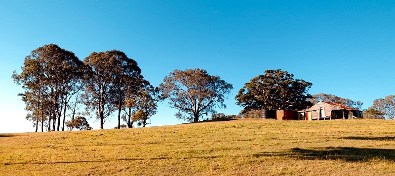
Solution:
[[[237,105],[244,109],[239,115],[216,114],[216,107],[224,103],[233,85],[203,69],[174,70],[153,87],[141,75],[134,59],[118,50],[93,52],[79,60],[73,52],[49,44],[33,50],[25,57],[20,74],[13,72],[14,82],[24,89],[18,94],[31,120],[39,131],[91,129],[83,116],[95,117],[104,129],[105,121],[114,113],[116,128],[145,127],[157,113],[158,103],[168,99],[172,108],[179,110],[175,117],[197,122],[203,116],[212,118],[259,117],[258,110],[302,110],[317,101],[329,101],[360,109],[362,102],[330,94],[308,93],[312,83],[294,79],[287,71],[266,70],[238,91]],[[367,116],[395,118],[395,95],[377,99]],[[83,105],[83,106],[82,106]],[[81,107],[84,107],[81,110]],[[66,121],[66,118],[70,120]],[[121,125],[121,120],[126,125]]]

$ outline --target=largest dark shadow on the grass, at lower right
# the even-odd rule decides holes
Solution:
[[[292,148],[285,152],[262,152],[260,156],[287,156],[304,160],[337,160],[365,162],[370,159],[395,161],[395,149],[356,148],[356,147],[324,147],[315,149]]]

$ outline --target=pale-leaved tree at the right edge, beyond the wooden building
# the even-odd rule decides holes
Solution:
[[[369,109],[379,111],[386,119],[395,119],[395,95],[374,100]]]

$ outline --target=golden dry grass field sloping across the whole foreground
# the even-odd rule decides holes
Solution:
[[[395,121],[239,119],[0,134],[0,175],[395,175]]]

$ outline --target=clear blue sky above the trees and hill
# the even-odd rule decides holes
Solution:
[[[154,86],[174,69],[202,68],[238,89],[266,69],[313,83],[311,94],[360,100],[395,94],[395,1],[1,0],[0,133],[31,132],[10,78],[30,52],[54,43],[83,60],[121,50]],[[178,124],[165,102],[151,126]],[[93,128],[99,123],[90,120]],[[105,123],[116,126],[116,117]]]

